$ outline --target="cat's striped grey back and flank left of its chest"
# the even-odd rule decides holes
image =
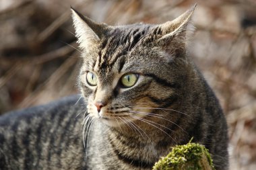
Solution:
[[[79,96],[0,117],[0,169],[82,169]],[[77,117],[76,117],[77,116]]]

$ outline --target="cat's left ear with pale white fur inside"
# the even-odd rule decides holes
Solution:
[[[104,36],[106,25],[92,21],[92,19],[82,15],[72,7],[71,13],[79,47],[85,50],[90,49]]]

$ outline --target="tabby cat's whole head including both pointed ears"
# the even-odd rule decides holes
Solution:
[[[79,85],[90,116],[109,126],[151,121],[159,108],[179,101],[194,9],[164,24],[127,26],[98,24],[71,9],[82,48]]]

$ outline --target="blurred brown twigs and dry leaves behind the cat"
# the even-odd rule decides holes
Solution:
[[[255,0],[1,0],[0,114],[78,93],[70,6],[111,25],[172,20],[197,3],[191,57],[226,114],[230,169],[256,169]]]

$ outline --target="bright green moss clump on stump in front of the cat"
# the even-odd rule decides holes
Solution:
[[[214,169],[212,158],[205,148],[205,146],[197,143],[185,145],[177,145],[172,148],[172,151],[166,156],[162,157],[153,167],[154,170],[194,170],[203,169],[202,160],[205,159],[211,169]]]

